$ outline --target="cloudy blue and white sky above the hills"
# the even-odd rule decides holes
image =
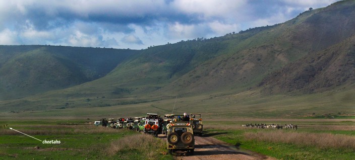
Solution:
[[[283,23],[339,0],[0,0],[0,45],[145,49]]]

